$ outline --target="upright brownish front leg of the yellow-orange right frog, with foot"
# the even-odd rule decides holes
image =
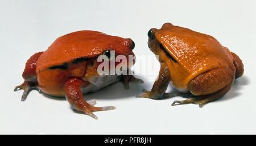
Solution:
[[[170,72],[166,63],[161,62],[158,79],[154,82],[151,91],[142,89],[144,94],[137,95],[136,97],[151,98],[151,99],[163,99],[170,96],[170,93],[165,93],[168,84],[171,80]]]

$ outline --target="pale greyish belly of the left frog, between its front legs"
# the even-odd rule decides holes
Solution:
[[[106,75],[106,76],[95,76],[91,77],[88,82],[90,84],[86,87],[82,87],[82,93],[94,92],[102,89],[105,86],[114,84],[120,80],[121,76],[118,75]]]

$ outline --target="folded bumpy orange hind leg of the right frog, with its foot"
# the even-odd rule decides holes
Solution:
[[[230,90],[233,81],[234,72],[230,69],[220,68],[203,73],[189,82],[192,95],[185,95],[188,97],[186,100],[174,101],[172,106],[194,103],[203,107],[223,97]]]

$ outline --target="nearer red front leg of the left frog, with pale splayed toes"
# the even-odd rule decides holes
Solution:
[[[85,114],[91,116],[92,118],[98,119],[97,116],[93,114],[94,111],[105,111],[115,109],[114,106],[94,107],[92,105],[94,105],[95,102],[86,102],[80,88],[85,87],[88,84],[89,82],[82,81],[78,78],[71,78],[65,83],[65,97],[75,110],[82,111]]]

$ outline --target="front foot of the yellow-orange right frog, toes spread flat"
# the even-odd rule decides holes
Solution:
[[[177,93],[163,93],[163,94],[159,94],[156,93],[154,91],[148,91],[146,89],[142,89],[142,92],[144,94],[142,95],[137,95],[136,97],[142,97],[142,98],[151,98],[151,99],[166,99],[166,98],[170,98],[170,97],[176,97]]]

